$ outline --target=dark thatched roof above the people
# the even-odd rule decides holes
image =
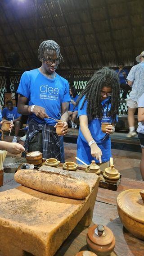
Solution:
[[[61,69],[132,66],[143,34],[144,0],[0,0],[0,66],[38,67],[48,39],[61,47]]]

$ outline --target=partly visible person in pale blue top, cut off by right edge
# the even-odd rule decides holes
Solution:
[[[139,164],[140,173],[144,181],[144,93],[138,100],[138,137],[141,146],[141,161]]]

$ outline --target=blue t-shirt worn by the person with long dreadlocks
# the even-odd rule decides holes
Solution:
[[[85,96],[83,96],[81,98],[81,100],[79,101],[78,117],[80,115],[88,115],[87,114],[87,101],[85,101],[85,103],[81,109],[81,105],[82,105],[84,99],[85,99]],[[107,98],[106,100],[101,102],[101,104],[103,105],[103,111],[104,111],[103,118],[102,119],[94,118],[93,120],[89,121],[89,123],[88,123],[88,128],[90,130],[90,133],[102,151],[102,154],[103,154],[102,162],[108,161],[110,159],[110,157],[112,156],[110,137],[108,135],[107,138],[105,140],[103,140],[103,138],[106,136],[106,133],[103,133],[101,131],[101,123],[102,122],[112,123],[112,118],[106,116],[107,107],[108,107],[108,111],[111,108],[111,103],[109,102],[109,104],[108,104],[108,101],[109,101],[109,98]],[[99,161],[96,160],[94,157],[92,157],[92,155],[90,154],[90,146],[88,145],[87,141],[85,140],[85,137],[81,133],[81,126],[79,128],[79,136],[77,139],[77,157],[80,158],[81,160],[83,160],[88,165],[91,163],[91,160],[95,160],[96,163],[99,163]]]

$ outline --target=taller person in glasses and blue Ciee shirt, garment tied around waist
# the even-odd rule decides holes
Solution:
[[[69,84],[55,71],[63,60],[60,47],[53,40],[43,41],[38,49],[41,66],[23,73],[18,86],[18,112],[29,115],[26,151],[40,151],[43,158],[56,158],[64,163],[63,136],[55,132],[63,121],[61,131],[68,131]],[[51,118],[52,119],[51,119]],[[25,154],[22,154],[25,156]]]

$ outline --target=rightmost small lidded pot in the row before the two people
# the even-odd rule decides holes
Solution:
[[[120,174],[118,170],[114,168],[114,165],[111,164],[110,167],[104,169],[103,178],[108,183],[117,183],[120,178]]]

